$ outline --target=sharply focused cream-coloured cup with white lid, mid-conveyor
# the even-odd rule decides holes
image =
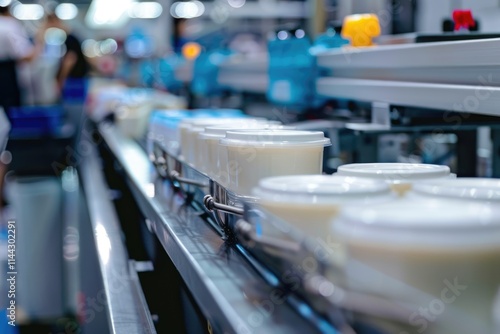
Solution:
[[[323,148],[330,139],[320,131],[228,131],[219,145],[221,155],[227,154],[228,188],[251,196],[266,177],[321,174]]]

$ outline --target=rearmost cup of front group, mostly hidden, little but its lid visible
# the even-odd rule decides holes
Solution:
[[[339,166],[335,175],[383,180],[400,196],[416,182],[456,177],[448,166],[411,163],[347,164]]]

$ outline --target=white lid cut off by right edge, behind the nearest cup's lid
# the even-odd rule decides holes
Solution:
[[[497,202],[500,201],[500,179],[458,178],[431,180],[414,185],[413,192],[420,195],[453,199]]]

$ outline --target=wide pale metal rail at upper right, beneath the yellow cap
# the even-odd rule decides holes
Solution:
[[[500,39],[343,48],[318,55],[331,70],[318,94],[408,107],[500,115]]]

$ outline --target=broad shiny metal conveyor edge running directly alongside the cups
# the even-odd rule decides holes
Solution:
[[[105,124],[105,143],[126,173],[139,207],[151,223],[200,309],[217,333],[316,333],[335,330],[303,305],[302,316],[275,299],[268,280],[220,233],[203,212],[185,204],[160,179],[146,152]],[[257,264],[258,265],[258,264]]]

